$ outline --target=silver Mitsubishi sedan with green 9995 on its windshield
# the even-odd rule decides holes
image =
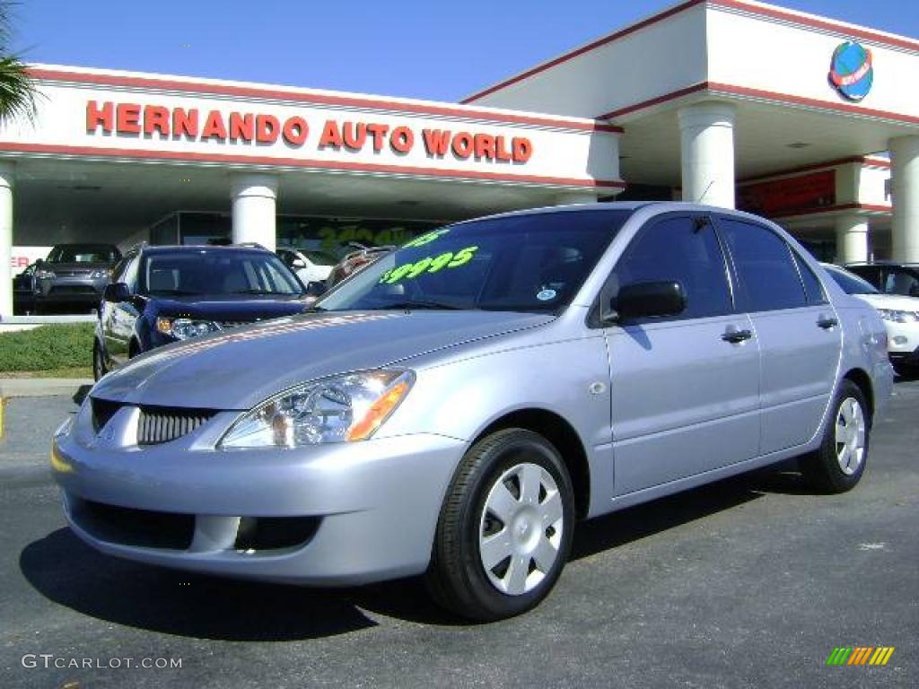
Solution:
[[[776,225],[679,203],[428,232],[312,312],[99,380],[51,465],[120,558],[307,585],[425,574],[493,620],[579,520],[800,457],[853,488],[891,394],[878,315]]]

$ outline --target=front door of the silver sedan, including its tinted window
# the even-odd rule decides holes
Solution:
[[[758,343],[734,308],[706,216],[652,220],[619,259],[601,299],[615,305],[619,288],[655,281],[678,282],[686,311],[605,331],[617,496],[750,459],[759,446]]]

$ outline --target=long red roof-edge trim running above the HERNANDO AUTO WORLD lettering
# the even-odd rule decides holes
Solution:
[[[153,88],[169,91],[183,91],[187,93],[219,96],[239,96],[249,98],[272,98],[276,100],[289,100],[300,103],[326,106],[346,107],[372,107],[394,112],[403,112],[417,115],[437,115],[465,119],[485,119],[503,124],[528,124],[539,127],[551,127],[559,130],[571,131],[605,131],[622,133],[622,128],[603,122],[574,122],[567,119],[542,118],[532,115],[512,115],[509,113],[496,113],[487,110],[460,109],[459,107],[427,106],[414,103],[400,103],[382,98],[333,96],[329,94],[309,94],[298,91],[281,91],[278,89],[262,88],[257,86],[233,86],[226,84],[210,84],[208,82],[193,82],[186,80],[163,79],[150,76],[123,76],[119,74],[96,74],[83,72],[69,72],[66,70],[46,70],[33,68],[28,73],[35,79],[49,81],[76,82],[79,84],[93,84],[101,86],[127,86],[130,88]]]

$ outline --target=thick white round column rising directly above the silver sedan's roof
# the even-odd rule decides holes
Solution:
[[[734,207],[734,107],[707,101],[679,109],[683,200]]]

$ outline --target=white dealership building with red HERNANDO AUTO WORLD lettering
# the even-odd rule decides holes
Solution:
[[[461,56],[458,57],[461,59]],[[0,317],[54,243],[340,255],[507,209],[685,199],[919,262],[919,40],[689,0],[461,103],[33,65],[0,129]]]

